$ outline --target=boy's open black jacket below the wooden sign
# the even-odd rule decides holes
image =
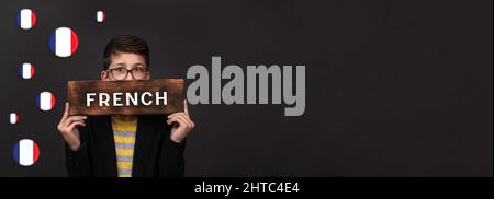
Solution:
[[[170,140],[165,115],[138,116],[134,145],[133,177],[183,176],[186,141]],[[79,128],[81,147],[65,144],[68,176],[116,177],[116,154],[110,116],[88,116]]]

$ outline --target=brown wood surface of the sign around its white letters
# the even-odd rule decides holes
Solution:
[[[134,80],[134,81],[69,81],[68,101],[70,103],[69,115],[155,115],[183,112],[183,79]],[[87,107],[87,93],[134,93],[141,96],[144,92],[167,92],[167,105],[137,106],[98,106],[98,101]],[[112,101],[110,101],[112,102]],[[126,99],[123,96],[122,103]]]

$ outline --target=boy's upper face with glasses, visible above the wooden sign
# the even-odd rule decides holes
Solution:
[[[111,56],[106,71],[101,72],[101,80],[149,80],[150,73],[146,60],[138,54],[119,52]]]

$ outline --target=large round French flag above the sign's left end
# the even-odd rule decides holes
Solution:
[[[49,37],[49,49],[58,57],[69,57],[76,52],[79,39],[76,32],[68,27],[58,27]]]

